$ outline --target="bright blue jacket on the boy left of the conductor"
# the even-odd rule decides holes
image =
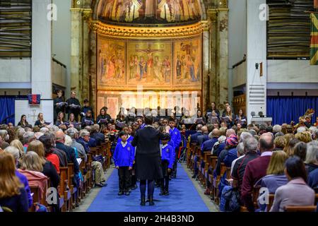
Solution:
[[[134,148],[131,143],[117,143],[114,150],[114,165],[116,167],[132,167],[134,162]]]

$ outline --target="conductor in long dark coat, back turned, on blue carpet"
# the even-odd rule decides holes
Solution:
[[[160,133],[151,126],[153,117],[145,117],[146,126],[136,131],[131,145],[136,147],[136,178],[140,179],[141,206],[146,205],[146,181],[148,180],[149,206],[153,203],[153,192],[155,191],[155,179],[163,178],[160,166],[160,140],[170,138],[169,126],[166,133]]]

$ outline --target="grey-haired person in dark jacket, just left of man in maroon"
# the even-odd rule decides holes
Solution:
[[[259,157],[259,155],[257,154],[258,142],[254,137],[247,138],[243,142],[243,145],[245,156],[235,162],[231,174],[231,177],[233,179],[233,187],[238,188],[239,191],[241,191],[242,189],[243,178],[247,164]]]

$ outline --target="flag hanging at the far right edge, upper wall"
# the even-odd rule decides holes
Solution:
[[[310,42],[310,65],[318,65],[318,13],[310,13],[312,33]]]

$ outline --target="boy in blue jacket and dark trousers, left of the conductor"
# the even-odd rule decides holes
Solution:
[[[118,169],[119,176],[119,196],[125,194],[129,196],[130,173],[129,170],[133,167],[134,162],[134,147],[127,142],[128,135],[124,131],[119,133],[119,138],[122,139],[117,143],[114,150],[114,165]]]

